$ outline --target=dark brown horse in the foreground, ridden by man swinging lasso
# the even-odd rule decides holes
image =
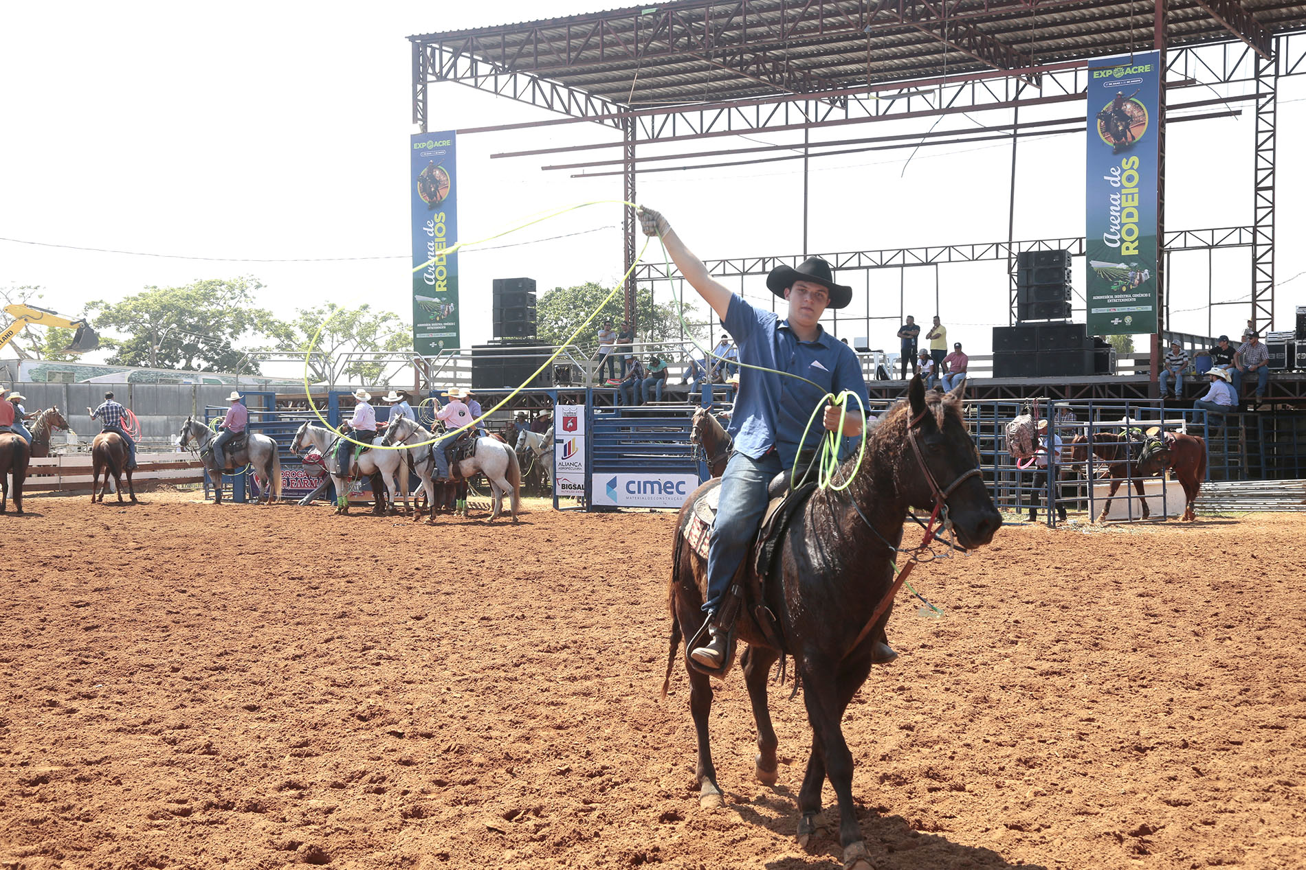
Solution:
[[[899,402],[870,436],[866,459],[844,492],[816,492],[790,522],[774,566],[764,578],[765,604],[776,614],[784,650],[767,642],[750,608],[741,612],[738,637],[748,644],[742,665],[757,725],[755,776],[767,784],[777,777],[776,732],[767,708],[767,676],[788,652],[803,686],[812,750],[798,796],[802,820],[798,840],[806,845],[820,824],[820,793],[829,777],[838,796],[840,844],[846,867],[868,867],[866,847],[853,805],[853,757],[844,742],[844,710],[871,670],[875,640],[888,622],[893,560],[910,506],[946,510],[964,547],[982,547],[1002,526],[1002,517],[980,475],[980,457],[961,417],[961,389],[926,394],[919,377],[912,380],[908,400]],[[854,459],[840,468],[852,475]],[[692,505],[720,480],[709,480],[680,509],[671,569],[671,643],[667,680],[682,638],[693,638],[703,625],[705,561],[684,539]],[[752,569],[744,558],[741,575]],[[879,605],[884,603],[882,609]],[[879,613],[879,616],[878,616]],[[872,625],[874,623],[874,625]],[[688,643],[686,644],[690,646]],[[699,736],[699,801],[722,803],[708,741],[712,683],[690,667],[690,710]],[[665,690],[663,683],[663,690]]]

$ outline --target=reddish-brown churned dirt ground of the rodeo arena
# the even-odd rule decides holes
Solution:
[[[838,866],[794,841],[788,686],[769,788],[730,674],[697,806],[669,514],[193,500],[0,518],[0,867]],[[922,566],[946,614],[899,599],[845,720],[876,866],[1306,866],[1303,530],[1008,527]]]

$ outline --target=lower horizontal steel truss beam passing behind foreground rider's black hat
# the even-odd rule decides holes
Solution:
[[[1216,227],[1208,230],[1177,230],[1166,232],[1165,250],[1205,250],[1208,248],[1249,248],[1252,245],[1252,227]],[[1070,250],[1072,257],[1084,256],[1084,236],[1063,239],[1032,239],[1025,241],[985,241],[961,245],[930,245],[926,248],[887,248],[883,250],[849,250],[819,253],[836,270],[846,269],[908,269],[944,263],[982,262],[989,260],[1015,260],[1023,250]],[[797,266],[803,254],[781,257],[726,257],[707,260],[708,271],[720,278],[765,275],[781,265]],[[635,279],[660,282],[678,279],[667,273],[663,262],[641,262]]]

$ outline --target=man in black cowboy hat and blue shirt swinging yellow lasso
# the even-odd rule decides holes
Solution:
[[[734,453],[721,477],[721,498],[708,550],[708,593],[703,609],[709,614],[712,639],[690,651],[699,664],[718,669],[725,661],[733,626],[721,625],[717,612],[756,536],[767,509],[768,484],[794,466],[803,428],[825,393],[837,395],[850,390],[863,406],[867,402],[857,353],[825,333],[819,322],[827,308],[848,305],[853,290],[836,284],[829,263],[819,257],[803,261],[798,269],[777,266],[767,275],[767,287],[789,303],[786,317],[781,320],[754,308],[716,280],[661,214],[640,207],[639,215],[644,232],[662,237],[680,274],[721,318],[744,364],[730,420]],[[803,380],[785,377],[774,369]],[[841,411],[827,404],[821,423],[836,432],[840,417]],[[844,434],[859,436],[863,428],[862,415],[857,410],[848,411]],[[812,434],[820,433],[808,433],[808,443],[815,446]],[[880,660],[893,656],[887,646],[878,652]]]

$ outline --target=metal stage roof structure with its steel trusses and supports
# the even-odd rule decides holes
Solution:
[[[637,171],[653,171],[636,168],[636,147],[654,142],[729,137],[713,154],[743,153],[744,145],[733,138],[741,133],[1006,108],[1017,112],[1011,124],[981,129],[1006,130],[1015,160],[1020,130],[1033,125],[1019,123],[1020,107],[1083,100],[1088,59],[1160,48],[1166,52],[1168,111],[1254,103],[1255,214],[1254,223],[1237,228],[1235,236],[1243,245],[1250,240],[1251,316],[1258,322],[1273,317],[1275,89],[1279,77],[1306,73],[1306,3],[675,0],[409,40],[413,121],[423,132],[428,90],[439,82],[462,83],[555,113],[460,133],[571,123],[613,128],[620,133],[613,142],[495,157],[620,149],[619,158],[585,166],[619,166],[613,173],[624,176],[624,198],[632,202]],[[1254,93],[1211,99],[1208,86],[1235,82],[1254,82]],[[1202,97],[1179,99],[1185,89]],[[801,145],[798,157],[806,166],[806,158],[818,157],[827,145]],[[1213,239],[1211,247],[1222,243]],[[1006,253],[1013,257],[1015,243],[1008,248]],[[750,262],[769,269],[807,253],[820,252]],[[629,211],[626,256],[627,265],[632,263]],[[760,273],[750,269],[747,274]],[[636,279],[671,280],[644,265]],[[633,313],[632,300],[633,288],[628,288],[628,313]]]

